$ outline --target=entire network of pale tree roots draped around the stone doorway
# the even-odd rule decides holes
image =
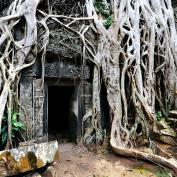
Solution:
[[[14,0],[6,16],[0,18],[0,131],[7,108],[8,146],[15,102],[13,93],[18,90],[15,83],[19,81],[20,71],[35,62],[37,33],[40,33],[36,19],[39,2]],[[48,15],[38,11],[38,23],[44,31],[41,34],[43,62],[50,34],[48,21],[51,20],[65,32],[69,31],[68,34],[79,37],[83,64],[86,59],[94,63],[92,109],[84,116],[83,127],[88,118],[91,121],[90,127],[84,129],[84,142],[88,142],[88,137],[96,143],[103,139],[100,110],[103,79],[110,107],[113,151],[163,164],[177,173],[177,161],[166,152],[165,157],[156,155],[154,147],[157,145],[150,136],[152,132],[159,132],[156,112],[161,110],[165,115],[167,107],[169,110],[177,108],[177,35],[171,1],[86,0],[85,7],[88,17],[53,15],[51,12]],[[26,21],[26,33],[23,39],[15,41],[12,29],[22,17]],[[108,19],[111,19],[110,27],[105,26]],[[89,21],[89,24],[83,23],[76,30],[72,25],[78,21]],[[85,37],[90,29],[98,34],[96,48]],[[33,60],[30,60],[31,55]],[[143,139],[153,154],[135,150],[140,145],[139,139]]]

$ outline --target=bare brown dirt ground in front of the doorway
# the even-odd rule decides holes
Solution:
[[[94,154],[72,143],[59,144],[60,161],[44,177],[170,177],[168,170],[111,152]]]

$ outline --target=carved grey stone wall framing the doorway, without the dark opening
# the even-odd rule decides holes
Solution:
[[[56,56],[56,55],[54,55]],[[47,141],[48,113],[47,94],[48,85],[75,84],[77,88],[78,105],[78,130],[77,136],[81,137],[82,117],[91,107],[91,69],[87,65],[84,69],[74,59],[54,58],[45,63],[44,90],[41,90],[42,64],[37,60],[32,68],[23,71],[20,81],[20,103],[23,109],[20,111],[21,121],[25,124],[24,136],[27,139],[37,139],[39,142]],[[83,74],[84,73],[84,74]],[[83,77],[82,77],[83,76]],[[24,111],[25,110],[25,111]],[[76,110],[74,110],[76,112]]]

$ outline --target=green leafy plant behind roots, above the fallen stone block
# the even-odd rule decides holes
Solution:
[[[12,112],[12,142],[15,141],[15,136],[22,130],[24,130],[24,126],[21,122],[18,121],[19,113]],[[8,114],[5,113],[2,119],[2,129],[0,134],[0,149],[3,149],[6,145],[7,138],[8,138]]]

